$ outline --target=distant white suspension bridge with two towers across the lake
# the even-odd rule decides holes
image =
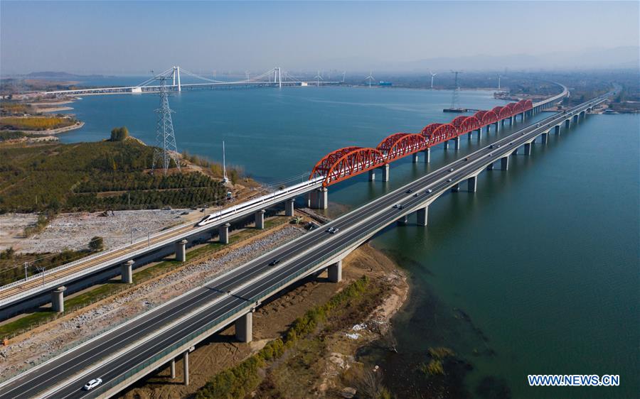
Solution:
[[[182,77],[188,77],[189,83],[183,83]],[[316,80],[304,80],[283,71],[280,67],[274,67],[260,75],[250,77],[247,75],[242,80],[215,80],[189,72],[179,66],[170,67],[159,74],[150,77],[135,86],[97,87],[92,89],[54,90],[50,92],[36,92],[31,96],[42,95],[92,95],[92,94],[144,94],[160,92],[159,80],[169,80],[166,89],[171,92],[182,92],[193,89],[215,89],[218,87],[285,87],[285,86],[325,86],[327,84],[341,84],[343,82],[324,80],[319,75]]]

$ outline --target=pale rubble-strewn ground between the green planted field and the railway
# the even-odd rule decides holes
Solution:
[[[181,215],[189,212],[188,215]],[[102,212],[76,212],[60,214],[44,231],[28,239],[22,232],[29,224],[35,224],[36,214],[0,215],[0,250],[13,246],[21,253],[55,252],[64,249],[87,248],[95,236],[105,239],[105,248],[113,248],[146,239],[147,232],[154,234],[166,226],[194,222],[202,213],[189,209],[116,211],[102,217]],[[64,239],[61,239],[64,237]]]

